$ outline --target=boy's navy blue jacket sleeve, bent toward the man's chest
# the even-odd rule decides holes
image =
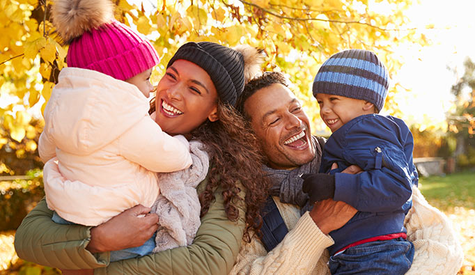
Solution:
[[[377,116],[359,121],[345,134],[343,157],[364,172],[335,173],[334,200],[363,212],[399,210],[412,196],[417,176],[412,148],[412,134],[402,120]]]

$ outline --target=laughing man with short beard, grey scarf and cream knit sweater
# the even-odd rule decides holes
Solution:
[[[299,175],[318,171],[325,141],[311,136],[309,118],[286,83],[282,74],[267,72],[247,84],[238,104],[267,156],[273,198],[266,205],[263,236],[243,243],[231,274],[329,274],[326,248],[333,240],[327,234],[356,212],[332,200],[305,211],[307,197]],[[343,172],[359,171],[350,167]],[[407,274],[455,274],[462,254],[448,219],[430,207],[417,189],[413,205],[405,226],[416,253]],[[272,212],[272,207],[278,211]],[[279,220],[285,226],[276,226]]]

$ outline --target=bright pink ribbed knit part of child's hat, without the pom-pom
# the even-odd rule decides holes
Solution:
[[[159,58],[148,40],[114,20],[72,40],[66,62],[125,80],[153,68]]]

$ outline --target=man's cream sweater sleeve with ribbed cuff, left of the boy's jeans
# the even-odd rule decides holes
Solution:
[[[231,274],[327,274],[318,264],[325,249],[333,244],[306,212],[282,242],[267,253],[257,237],[244,244]]]

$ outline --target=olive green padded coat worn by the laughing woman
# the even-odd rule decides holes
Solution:
[[[206,184],[207,179],[199,184],[198,191]],[[201,219],[190,246],[109,263],[109,252],[90,253],[85,249],[91,227],[54,223],[53,212],[43,198],[17,229],[15,250],[30,262],[61,269],[93,268],[95,274],[228,274],[242,243],[246,209],[244,203],[237,205],[240,218],[229,221],[221,191],[215,191],[216,200]],[[240,195],[244,198],[244,192]]]

